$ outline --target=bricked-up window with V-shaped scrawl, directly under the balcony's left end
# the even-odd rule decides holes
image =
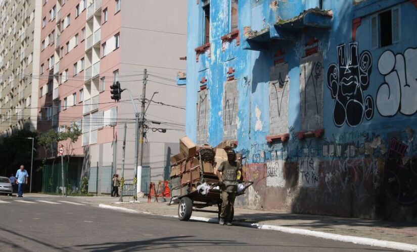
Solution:
[[[270,134],[276,135],[288,131],[288,97],[290,80],[288,65],[276,65],[270,69],[269,82],[269,122]]]

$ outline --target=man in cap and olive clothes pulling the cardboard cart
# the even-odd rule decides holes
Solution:
[[[236,193],[238,190],[238,173],[242,172],[242,165],[236,161],[236,153],[234,150],[226,150],[227,161],[223,161],[218,170],[217,177],[221,184],[221,211],[220,225],[231,225],[231,211],[235,204]],[[221,175],[220,175],[221,172]]]

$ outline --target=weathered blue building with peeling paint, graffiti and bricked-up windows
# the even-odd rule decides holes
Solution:
[[[417,221],[417,1],[189,0],[186,133],[253,209]]]

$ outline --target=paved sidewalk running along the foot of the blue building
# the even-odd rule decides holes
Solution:
[[[168,206],[166,202],[109,202],[106,205],[134,210],[138,213],[177,216],[178,205]],[[216,210],[216,208],[205,208]],[[194,212],[192,217],[203,217],[217,220],[217,214]],[[417,225],[410,223],[364,220],[331,216],[285,214],[270,211],[257,211],[235,208],[236,222],[256,223],[263,225],[283,226],[307,229],[339,235],[373,238],[378,240],[403,242],[417,245]]]

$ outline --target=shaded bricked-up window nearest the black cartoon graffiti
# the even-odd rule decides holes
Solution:
[[[322,55],[315,53],[301,59],[301,130],[322,128],[323,120],[323,75]]]

